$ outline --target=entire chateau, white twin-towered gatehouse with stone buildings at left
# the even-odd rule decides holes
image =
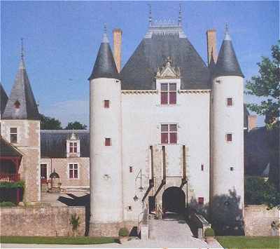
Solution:
[[[207,31],[207,63],[181,14],[176,24],[150,17],[123,67],[122,35],[114,29],[112,52],[104,31],[89,77],[90,131],[40,131],[22,57],[1,103],[1,139],[22,155],[13,173],[25,180],[25,200],[40,201],[55,169],[62,188],[90,188],[90,235],[115,236],[159,208],[195,208],[213,224],[242,227],[244,75],[228,28],[218,55],[216,31]]]

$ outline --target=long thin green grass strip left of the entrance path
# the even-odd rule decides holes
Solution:
[[[118,238],[112,237],[43,237],[43,236],[1,236],[1,243],[18,244],[72,244],[90,245],[117,243]]]

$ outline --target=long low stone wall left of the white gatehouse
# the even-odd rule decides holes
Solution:
[[[72,236],[71,215],[80,217],[78,236],[85,235],[84,207],[0,208],[1,236]]]

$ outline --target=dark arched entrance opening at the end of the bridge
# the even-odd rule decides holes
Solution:
[[[186,208],[186,195],[179,187],[169,187],[162,194],[163,212],[183,213]]]

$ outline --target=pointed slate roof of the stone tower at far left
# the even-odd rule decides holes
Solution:
[[[18,74],[10,92],[2,119],[30,119],[38,120],[39,113],[36,101],[31,90],[25,62],[23,57],[20,60]]]

